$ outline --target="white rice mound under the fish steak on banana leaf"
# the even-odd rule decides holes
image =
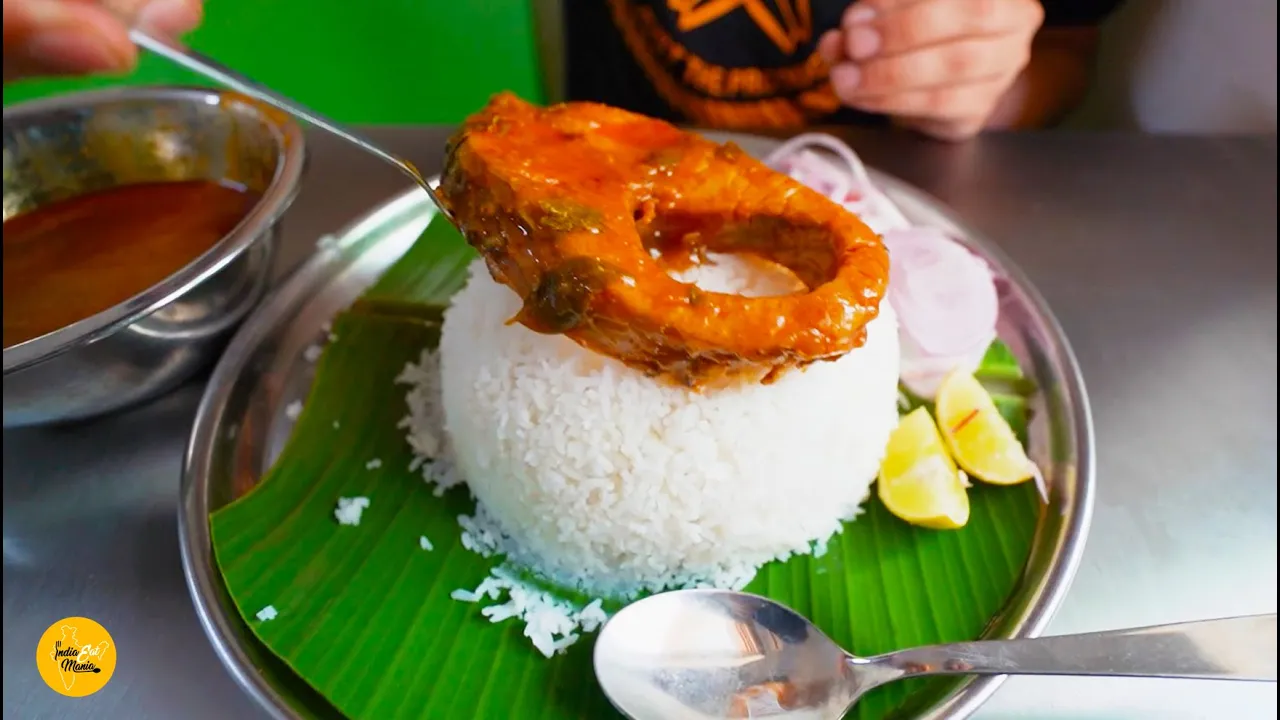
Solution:
[[[791,287],[731,256],[685,273],[707,291]],[[600,597],[741,587],[854,518],[897,424],[897,322],[831,363],[703,395],[563,336],[507,322],[520,300],[481,261],[444,316],[449,461],[511,560]]]

